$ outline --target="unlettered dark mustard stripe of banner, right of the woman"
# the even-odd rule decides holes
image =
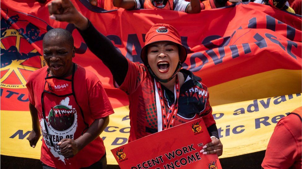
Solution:
[[[211,106],[301,93],[302,71],[277,69],[209,87]],[[206,84],[205,84],[206,85]]]

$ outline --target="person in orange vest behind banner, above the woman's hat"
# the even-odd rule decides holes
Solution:
[[[186,13],[199,13],[199,0],[113,0],[115,7],[127,10],[157,9],[177,10]]]

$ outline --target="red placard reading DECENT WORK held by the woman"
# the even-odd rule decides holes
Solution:
[[[211,141],[202,118],[143,137],[111,150],[127,169],[221,168],[217,155],[199,151]]]

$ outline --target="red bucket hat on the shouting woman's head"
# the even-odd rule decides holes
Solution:
[[[179,45],[179,60],[182,64],[187,58],[187,50],[181,44],[180,36],[178,31],[169,24],[157,23],[153,25],[150,30],[147,32],[145,37],[145,46],[140,52],[140,58],[144,62],[145,65],[148,65],[148,54],[147,54],[147,46],[154,42],[160,41],[170,41]]]

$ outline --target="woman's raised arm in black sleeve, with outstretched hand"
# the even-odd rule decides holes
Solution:
[[[50,18],[73,23],[84,38],[88,48],[111,71],[114,80],[121,85],[128,71],[128,62],[110,39],[97,31],[90,21],[73,6],[70,0],[54,0],[48,5]]]

